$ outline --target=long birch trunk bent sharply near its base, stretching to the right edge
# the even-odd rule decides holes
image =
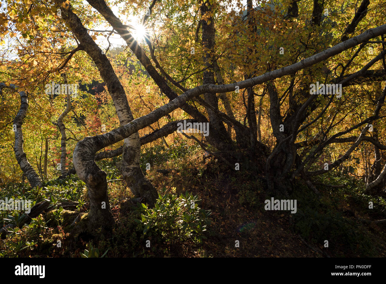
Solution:
[[[65,5],[65,7],[66,7],[66,11],[64,15],[68,15],[68,17],[71,17],[69,21],[74,20],[74,15],[70,10],[69,5]],[[67,20],[68,18],[66,19],[66,21]],[[77,21],[80,23],[79,19],[77,19]],[[83,29],[83,32],[85,32],[85,29],[83,27],[81,28]],[[122,28],[120,29],[122,30]],[[77,30],[75,30],[74,33],[76,33],[76,31]],[[384,33],[386,33],[386,24],[374,29],[370,29],[361,35],[353,37],[352,39],[349,39],[345,42],[337,44],[334,47],[331,47],[323,52],[320,52],[306,59],[303,59],[300,62],[291,64],[289,66],[285,66],[280,69],[276,69],[274,71],[267,72],[265,74],[262,74],[260,76],[257,76],[251,79],[246,79],[243,81],[239,81],[237,83],[232,83],[227,85],[205,84],[205,85],[198,86],[196,88],[185,91],[182,95],[176,97],[174,100],[170,101],[166,105],[163,105],[157,108],[156,110],[154,110],[153,112],[143,117],[137,118],[120,128],[114,129],[103,135],[98,135],[95,137],[86,137],[85,139],[81,140],[76,144],[75,150],[73,152],[73,161],[74,161],[74,167],[76,169],[76,173],[78,174],[81,180],[85,181],[86,186],[89,189],[90,201],[92,201],[93,203],[92,204],[93,214],[91,215],[94,215],[94,216],[92,218],[90,217],[90,220],[92,220],[90,223],[90,226],[94,228],[99,228],[101,225],[111,226],[111,224],[109,223],[109,220],[112,219],[110,211],[103,210],[103,208],[102,210],[100,209],[101,203],[103,204],[104,200],[108,201],[107,181],[105,178],[106,174],[103,171],[100,171],[99,167],[95,163],[95,154],[97,151],[103,149],[103,147],[107,147],[127,137],[130,137],[139,129],[142,129],[147,125],[150,125],[156,122],[159,118],[163,117],[164,115],[167,115],[168,113],[172,112],[176,108],[183,106],[186,103],[186,101],[191,100],[198,95],[201,95],[204,93],[223,93],[223,92],[234,91],[235,86],[239,86],[240,89],[248,88],[251,86],[265,83],[275,78],[282,77],[284,75],[294,74],[300,69],[304,69],[306,67],[312,66],[313,64],[316,64],[322,60],[325,60],[330,56],[338,54],[341,51],[347,50],[352,46],[361,44],[363,41],[367,41],[368,39],[371,39],[373,37],[376,37],[379,34],[384,34]],[[88,40],[87,44],[88,43],[90,43],[91,45],[95,44],[95,42],[93,42],[91,38]],[[96,55],[91,57],[93,58],[94,61],[98,61],[95,63],[97,64],[98,68],[101,68],[100,58]],[[109,61],[107,62],[109,63]],[[103,70],[100,69],[100,72],[102,74]],[[111,77],[108,77],[107,79],[112,79],[113,81],[113,78]],[[109,80],[106,80],[106,81],[109,82]],[[117,90],[117,87],[118,87],[117,85],[113,84],[113,85],[110,85],[108,89],[109,91],[115,91]],[[278,106],[277,100],[278,98],[276,96],[276,107]],[[278,114],[280,115],[280,112],[278,112]],[[279,118],[278,122],[280,121],[281,119]],[[275,131],[278,131],[278,130],[275,130]],[[296,154],[296,151],[295,151],[295,154]],[[107,208],[108,206],[106,206],[106,209]],[[101,215],[100,216],[101,218],[100,219],[96,218],[96,216],[99,216],[99,215]]]

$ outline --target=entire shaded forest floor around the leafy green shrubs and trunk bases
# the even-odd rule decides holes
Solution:
[[[161,174],[156,169],[174,169]],[[109,196],[115,225],[112,237],[69,237],[66,222],[50,224],[42,230],[23,228],[7,237],[0,247],[3,256],[79,257],[85,249],[98,248],[98,256],[107,257],[384,257],[386,224],[364,223],[360,219],[385,219],[385,200],[366,196],[360,181],[351,177],[323,177],[323,183],[345,184],[344,188],[318,186],[320,197],[302,184],[295,186],[291,199],[297,200],[297,212],[266,211],[266,199],[288,199],[267,193],[264,180],[254,169],[232,171],[214,157],[198,150],[194,155],[154,163],[146,176],[162,194],[188,191],[201,201],[198,206],[210,210],[209,225],[202,243],[178,236],[155,239],[143,234],[134,219],[141,214],[124,206],[130,191],[122,180],[109,182]],[[336,174],[335,174],[336,176]],[[87,211],[86,189],[83,188]],[[161,194],[161,195],[162,195]],[[125,199],[124,201],[122,201]],[[118,202],[115,202],[119,200]],[[374,209],[368,202],[374,202]],[[129,210],[128,210],[129,208]],[[52,215],[51,215],[52,217]],[[69,223],[69,222],[67,222]],[[161,232],[162,235],[162,232]],[[56,246],[56,239],[62,246]],[[145,242],[151,239],[152,247]],[[165,242],[165,240],[168,240]],[[328,240],[328,247],[325,247]],[[21,249],[20,243],[31,243]],[[18,248],[18,246],[20,246]],[[100,254],[99,254],[100,252]]]

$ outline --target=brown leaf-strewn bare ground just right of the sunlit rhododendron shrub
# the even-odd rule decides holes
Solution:
[[[190,189],[193,195],[197,194],[202,199],[201,208],[212,211],[212,224],[208,228],[210,236],[204,240],[201,250],[191,250],[183,255],[179,255],[180,252],[177,251],[175,256],[199,257],[200,252],[213,257],[319,256],[291,232],[290,213],[286,212],[284,215],[282,211],[263,209],[262,188],[243,191],[247,196],[241,197],[240,189],[245,187],[245,183],[251,182],[241,176],[235,180],[227,174],[213,175],[212,178],[207,176],[204,181],[199,179],[200,182]],[[176,174],[166,177],[164,183],[176,184],[176,191],[179,193],[188,189],[190,181],[186,176],[184,178],[183,175]],[[253,185],[256,186],[251,183]],[[246,199],[242,205],[240,198]],[[246,204],[249,202],[253,205],[259,203],[261,206]],[[236,240],[239,241],[239,247],[235,247]]]

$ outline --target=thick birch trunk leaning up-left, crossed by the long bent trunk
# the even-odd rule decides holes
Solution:
[[[58,3],[62,3],[62,1],[58,1]],[[78,16],[72,12],[71,6],[65,4],[64,9],[65,11],[64,13],[62,13],[63,19],[69,25],[76,38],[80,41],[80,44],[83,46],[83,49],[97,65],[100,75],[103,81],[106,83],[108,92],[112,97],[120,125],[126,125],[127,123],[131,122],[134,117],[131,113],[129,103],[127,102],[125,90],[122,84],[120,83],[117,75],[115,74],[115,71],[112,65],[110,64],[110,61],[108,60],[105,53],[102,52],[98,45],[93,41],[85,27],[83,27]],[[125,148],[122,153],[122,160],[119,163],[119,168],[122,173],[122,177],[125,179],[127,186],[130,188],[130,190],[136,197],[143,198],[144,202],[152,206],[158,198],[158,193],[154,186],[152,186],[150,181],[147,180],[146,177],[144,177],[141,171],[141,167],[139,164],[139,159],[141,156],[141,144],[139,141],[138,132],[126,138],[124,140],[124,145]],[[77,174],[79,176],[78,171]],[[98,181],[99,179],[101,179],[101,181],[103,180],[104,183],[104,172],[101,171],[95,181]],[[93,181],[90,181],[91,188],[95,186],[104,186],[103,184],[93,183]],[[105,200],[107,198],[106,196],[103,196],[103,198],[101,196],[94,196],[95,192],[98,191],[94,191],[92,189],[88,191],[90,200],[95,199],[97,203],[106,201],[106,204],[108,204],[108,200]],[[93,210],[90,210],[90,213],[91,212],[98,212],[98,210],[94,208]],[[95,218],[99,218],[98,214],[95,214]]]

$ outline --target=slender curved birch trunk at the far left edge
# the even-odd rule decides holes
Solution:
[[[8,89],[17,91],[19,87],[13,84],[10,84],[9,86],[7,86],[4,83],[0,83],[0,89],[3,89],[3,88],[8,88]],[[25,155],[23,150],[24,140],[23,140],[22,125],[24,122],[25,115],[27,113],[28,99],[24,91],[21,91],[19,95],[21,100],[20,110],[17,113],[13,123],[13,129],[15,132],[14,152],[15,152],[16,160],[19,163],[20,168],[22,169],[24,175],[27,177],[31,187],[32,188],[43,187],[40,177],[37,175],[36,171],[32,168],[32,166],[28,162],[27,156]]]

